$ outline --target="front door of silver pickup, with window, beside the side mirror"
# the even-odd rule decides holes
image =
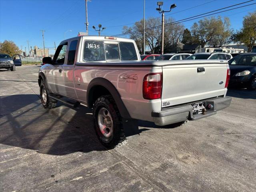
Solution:
[[[52,61],[52,65],[47,68],[47,80],[53,92],[64,93],[64,80],[62,79],[63,64],[66,62],[68,42],[59,45]]]

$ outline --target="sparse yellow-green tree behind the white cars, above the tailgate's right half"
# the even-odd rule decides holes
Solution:
[[[228,21],[228,18],[224,18],[224,20]],[[223,31],[225,31],[224,26],[225,24],[220,17],[210,17],[199,20],[198,23],[194,23],[191,27],[191,31],[195,37],[199,38],[201,46],[204,47],[206,44],[213,41],[216,36],[223,34]]]

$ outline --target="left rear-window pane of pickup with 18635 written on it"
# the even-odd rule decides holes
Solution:
[[[103,41],[89,40],[84,42],[83,61],[105,61]]]

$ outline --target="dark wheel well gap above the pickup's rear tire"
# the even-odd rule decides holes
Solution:
[[[94,86],[90,89],[90,94],[88,98],[88,107],[92,107],[94,102],[103,95],[111,95],[111,93],[101,85]]]

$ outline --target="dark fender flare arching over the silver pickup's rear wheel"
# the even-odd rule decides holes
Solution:
[[[118,107],[118,110],[122,116],[122,118],[130,119],[131,116],[126,109],[126,106],[124,105],[121,96],[119,92],[116,90],[115,86],[108,80],[102,77],[94,78],[88,85],[87,92],[86,92],[86,98],[87,98],[87,105],[89,108],[93,107],[93,95],[90,94],[90,91],[93,90],[94,86],[103,86],[106,88],[112,97],[114,98],[114,101],[116,102],[116,105]]]

